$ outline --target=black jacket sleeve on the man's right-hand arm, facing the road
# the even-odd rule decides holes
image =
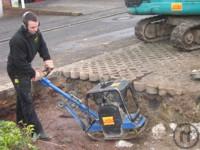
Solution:
[[[46,42],[44,41],[44,38],[41,33],[40,33],[40,46],[38,52],[40,57],[42,57],[44,61],[51,59]]]

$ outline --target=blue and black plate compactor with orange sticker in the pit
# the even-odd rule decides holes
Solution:
[[[40,82],[64,97],[58,106],[67,110],[94,140],[131,139],[138,136],[147,124],[146,117],[140,114],[132,82],[128,80],[97,84],[86,94],[84,103],[46,77]]]

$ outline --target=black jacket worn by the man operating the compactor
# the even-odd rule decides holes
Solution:
[[[10,53],[8,55],[8,73],[13,75],[25,75],[31,78],[35,71],[31,62],[37,52],[43,60],[50,59],[49,51],[40,32],[31,35],[24,26],[14,34],[9,42]]]

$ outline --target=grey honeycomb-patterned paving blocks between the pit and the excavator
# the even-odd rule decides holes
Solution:
[[[200,89],[200,83],[190,78],[191,70],[200,67],[199,57],[199,51],[181,52],[166,42],[140,42],[64,66],[54,73],[90,81],[127,78],[133,80],[137,91],[181,95]]]

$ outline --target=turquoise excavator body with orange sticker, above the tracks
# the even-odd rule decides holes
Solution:
[[[125,0],[128,11],[138,15],[200,15],[200,1]]]

